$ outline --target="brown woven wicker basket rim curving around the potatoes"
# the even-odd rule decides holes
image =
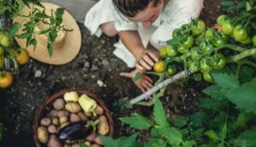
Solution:
[[[48,99],[45,99],[44,104],[40,107],[40,109],[37,111],[35,119],[34,119],[34,123],[33,123],[33,138],[35,141],[35,144],[38,147],[43,147],[46,145],[41,144],[38,141],[38,126],[40,124],[40,119],[44,116],[46,116],[46,113],[49,112],[49,110],[52,109],[52,104],[55,101],[55,99],[58,99],[60,97],[63,97],[64,93],[70,92],[70,91],[76,91],[77,93],[80,94],[86,94],[88,95],[91,99],[95,99],[97,102],[97,105],[102,106],[103,110],[104,110],[104,116],[107,117],[108,119],[108,124],[109,124],[109,133],[108,136],[113,136],[113,119],[111,116],[110,111],[108,110],[108,108],[106,107],[106,105],[103,103],[103,101],[101,99],[99,99],[95,94],[90,93],[90,91],[85,90],[85,89],[79,89],[79,88],[71,88],[71,89],[66,89],[66,90],[61,90],[58,93],[55,93],[53,96],[49,97]]]

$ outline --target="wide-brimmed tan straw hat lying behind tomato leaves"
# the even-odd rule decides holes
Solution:
[[[51,9],[55,10],[60,6],[54,3],[42,3],[44,8],[46,8],[45,13],[50,14]],[[42,9],[38,6],[34,6],[39,9]],[[32,8],[32,7],[30,7]],[[22,14],[29,14],[32,10],[27,6],[24,7],[21,11]],[[21,48],[26,48],[32,58],[37,59],[41,62],[50,64],[50,65],[63,65],[67,62],[70,62],[79,54],[79,49],[81,47],[81,32],[79,30],[79,25],[76,23],[76,20],[73,19],[73,16],[65,10],[65,13],[62,16],[65,28],[73,29],[73,31],[60,31],[57,34],[55,42],[53,42],[53,55],[49,57],[48,48],[47,48],[47,39],[48,34],[35,35],[38,45],[34,49],[33,46],[26,48],[26,39],[15,38]],[[19,22],[22,24],[24,18],[16,17],[14,22]],[[35,31],[44,30],[46,26],[42,23],[35,27]],[[48,26],[47,26],[48,27]],[[18,33],[22,33],[22,28]]]

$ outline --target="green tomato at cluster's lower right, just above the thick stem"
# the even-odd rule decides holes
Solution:
[[[212,56],[212,67],[215,70],[223,69],[227,61],[223,54],[214,54]]]

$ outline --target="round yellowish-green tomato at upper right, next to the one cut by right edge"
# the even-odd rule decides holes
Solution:
[[[233,36],[237,42],[242,42],[247,40],[248,35],[247,28],[243,27],[242,25],[236,25],[233,31]]]

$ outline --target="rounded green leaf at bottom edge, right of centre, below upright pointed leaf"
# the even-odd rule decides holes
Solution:
[[[183,141],[182,134],[174,127],[163,127],[160,132],[162,136],[169,139],[169,144],[173,146],[179,145]]]

